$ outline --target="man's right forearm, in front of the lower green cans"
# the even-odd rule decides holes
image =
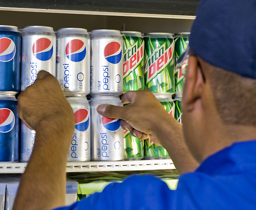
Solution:
[[[182,125],[170,115],[160,120],[164,123],[158,124],[155,136],[168,151],[177,171],[179,174],[194,171],[199,164],[192,157],[184,141]]]

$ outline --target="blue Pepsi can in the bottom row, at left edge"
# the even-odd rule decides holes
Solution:
[[[19,160],[19,117],[15,96],[0,95],[0,162]]]

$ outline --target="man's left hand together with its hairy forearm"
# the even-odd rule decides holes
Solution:
[[[57,79],[40,71],[34,84],[19,95],[18,113],[36,134],[13,210],[50,210],[63,206],[74,112]]]

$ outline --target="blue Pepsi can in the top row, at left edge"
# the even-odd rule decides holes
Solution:
[[[20,33],[0,25],[0,91],[20,91]]]

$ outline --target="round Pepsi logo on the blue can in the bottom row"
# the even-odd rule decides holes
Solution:
[[[0,132],[7,133],[12,131],[15,124],[15,117],[10,109],[0,109]]]

